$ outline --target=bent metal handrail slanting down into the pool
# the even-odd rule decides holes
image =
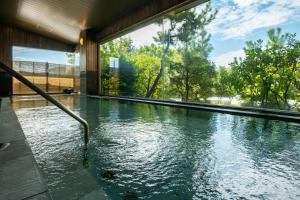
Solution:
[[[64,111],[65,113],[67,113],[68,115],[70,115],[71,117],[76,119],[77,121],[79,121],[84,127],[84,131],[85,131],[84,132],[84,145],[85,145],[85,150],[87,149],[87,144],[88,144],[88,141],[89,141],[89,124],[87,123],[87,121],[85,121],[81,117],[77,116],[73,111],[66,108],[64,105],[59,103],[56,99],[54,99],[53,97],[51,97],[50,95],[45,93],[42,89],[40,89],[39,87],[37,87],[36,85],[31,83],[24,76],[22,76],[21,74],[19,74],[15,70],[11,69],[10,67],[5,65],[4,63],[0,62],[0,68],[3,69],[4,71],[6,71],[9,75],[11,75],[11,76],[15,77],[16,79],[18,79],[20,82],[22,82],[23,84],[28,86],[33,91],[40,94],[42,97],[44,97],[45,99],[47,99],[51,103],[53,103],[55,106],[60,108],[62,111]]]

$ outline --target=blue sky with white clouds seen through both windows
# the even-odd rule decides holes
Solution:
[[[216,19],[207,27],[211,33],[213,51],[210,59],[217,66],[228,66],[234,57],[243,57],[245,42],[262,39],[266,41],[267,31],[282,28],[282,31],[296,33],[300,39],[300,0],[211,0],[218,10]],[[196,10],[201,12],[204,5]],[[154,43],[153,37],[161,28],[148,25],[124,37],[130,37],[135,46]],[[41,51],[15,47],[15,60],[48,61],[66,64],[64,52]]]

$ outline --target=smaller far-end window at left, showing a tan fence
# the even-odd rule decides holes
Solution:
[[[74,53],[14,47],[13,68],[48,93],[79,92],[79,56]],[[13,94],[33,94],[13,79]]]

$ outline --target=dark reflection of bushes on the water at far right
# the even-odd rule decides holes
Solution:
[[[256,167],[282,162],[299,170],[300,127],[296,124],[253,117],[235,117],[233,142],[242,144]],[[299,163],[299,162],[298,162]]]

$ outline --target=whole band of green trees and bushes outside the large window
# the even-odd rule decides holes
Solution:
[[[247,105],[300,109],[300,41],[280,28],[267,41],[248,41],[244,58],[215,66],[207,26],[216,11],[207,3],[159,19],[154,43],[134,47],[122,37],[101,45],[102,94],[207,101],[238,97]],[[119,67],[110,67],[118,58]]]

